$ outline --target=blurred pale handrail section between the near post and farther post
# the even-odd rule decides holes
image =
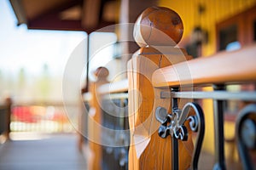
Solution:
[[[119,82],[110,82],[103,84],[98,88],[99,94],[114,94],[128,91],[128,80],[121,80]]]

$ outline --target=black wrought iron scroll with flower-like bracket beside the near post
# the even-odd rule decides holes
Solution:
[[[193,116],[189,116],[189,110],[191,108],[195,111],[195,115]],[[172,169],[178,169],[177,139],[183,141],[188,139],[189,133],[184,123],[188,121],[190,129],[198,133],[192,157],[192,168],[197,169],[205,133],[205,120],[201,106],[194,102],[189,102],[183,106],[183,110],[180,110],[177,108],[177,99],[173,99],[172,114],[168,114],[165,108],[158,107],[155,111],[155,117],[161,123],[158,132],[160,137],[165,139],[168,135],[172,136],[172,159],[174,159],[172,160],[172,166],[174,166]]]

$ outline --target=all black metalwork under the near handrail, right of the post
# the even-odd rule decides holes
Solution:
[[[223,84],[213,85],[214,91],[179,91],[172,88],[160,92],[161,99],[172,99],[172,111],[168,113],[165,108],[158,107],[155,117],[160,122],[159,135],[166,139],[172,137],[172,169],[178,169],[178,140],[189,139],[189,130],[197,132],[194,155],[191,168],[197,169],[198,157],[201,151],[201,144],[204,138],[205,122],[203,111],[196,103],[187,103],[183,109],[178,108],[178,99],[213,99],[214,106],[214,147],[215,163],[213,169],[226,169],[224,157],[224,108],[225,102],[229,99],[255,102],[255,91],[229,92]],[[189,109],[195,111],[195,115],[189,115]],[[189,122],[189,126],[184,126]],[[186,123],[187,124],[187,123]],[[190,129],[189,129],[190,128]],[[236,121],[236,144],[243,165],[243,169],[256,167],[254,153],[256,150],[256,104],[247,105],[237,116]],[[253,152],[253,154],[252,154]],[[252,156],[253,155],[253,156]]]

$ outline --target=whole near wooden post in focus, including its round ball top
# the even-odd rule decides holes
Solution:
[[[183,34],[183,23],[177,13],[169,8],[147,8],[134,27],[134,38],[141,47],[128,62],[129,124],[131,145],[129,169],[171,169],[172,139],[161,139],[160,124],[154,111],[157,106],[171,112],[171,99],[160,99],[154,88],[152,75],[155,70],[191,59],[181,48],[174,48]],[[191,135],[189,135],[191,136]],[[193,152],[192,139],[178,142],[180,169],[188,169]]]

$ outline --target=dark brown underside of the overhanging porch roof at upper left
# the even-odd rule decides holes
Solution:
[[[119,20],[118,0],[9,0],[28,29],[90,33]]]

